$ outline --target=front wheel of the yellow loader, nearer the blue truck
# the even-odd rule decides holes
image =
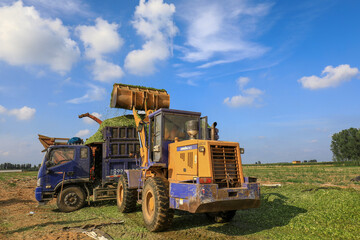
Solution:
[[[120,212],[128,213],[135,211],[137,201],[137,190],[129,189],[127,175],[119,177],[116,191],[116,202]]]

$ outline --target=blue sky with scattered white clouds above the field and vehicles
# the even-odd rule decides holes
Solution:
[[[0,163],[42,160],[37,134],[87,138],[114,83],[164,88],[216,121],[244,163],[331,160],[360,122],[359,1],[3,0]]]

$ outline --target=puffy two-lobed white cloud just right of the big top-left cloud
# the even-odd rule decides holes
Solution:
[[[78,26],[76,31],[84,42],[85,55],[88,59],[95,60],[93,65],[94,79],[107,82],[121,78],[124,73],[120,66],[104,60],[104,55],[118,51],[124,40],[117,32],[119,25],[108,23],[102,18],[97,18],[95,26]]]

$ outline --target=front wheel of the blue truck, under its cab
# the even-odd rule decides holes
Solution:
[[[85,193],[80,187],[67,187],[56,200],[62,212],[72,212],[80,209],[85,203]]]

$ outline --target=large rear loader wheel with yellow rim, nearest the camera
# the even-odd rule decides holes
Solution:
[[[169,182],[160,177],[146,180],[142,191],[142,212],[149,231],[163,231],[171,225],[174,210],[169,205]]]

